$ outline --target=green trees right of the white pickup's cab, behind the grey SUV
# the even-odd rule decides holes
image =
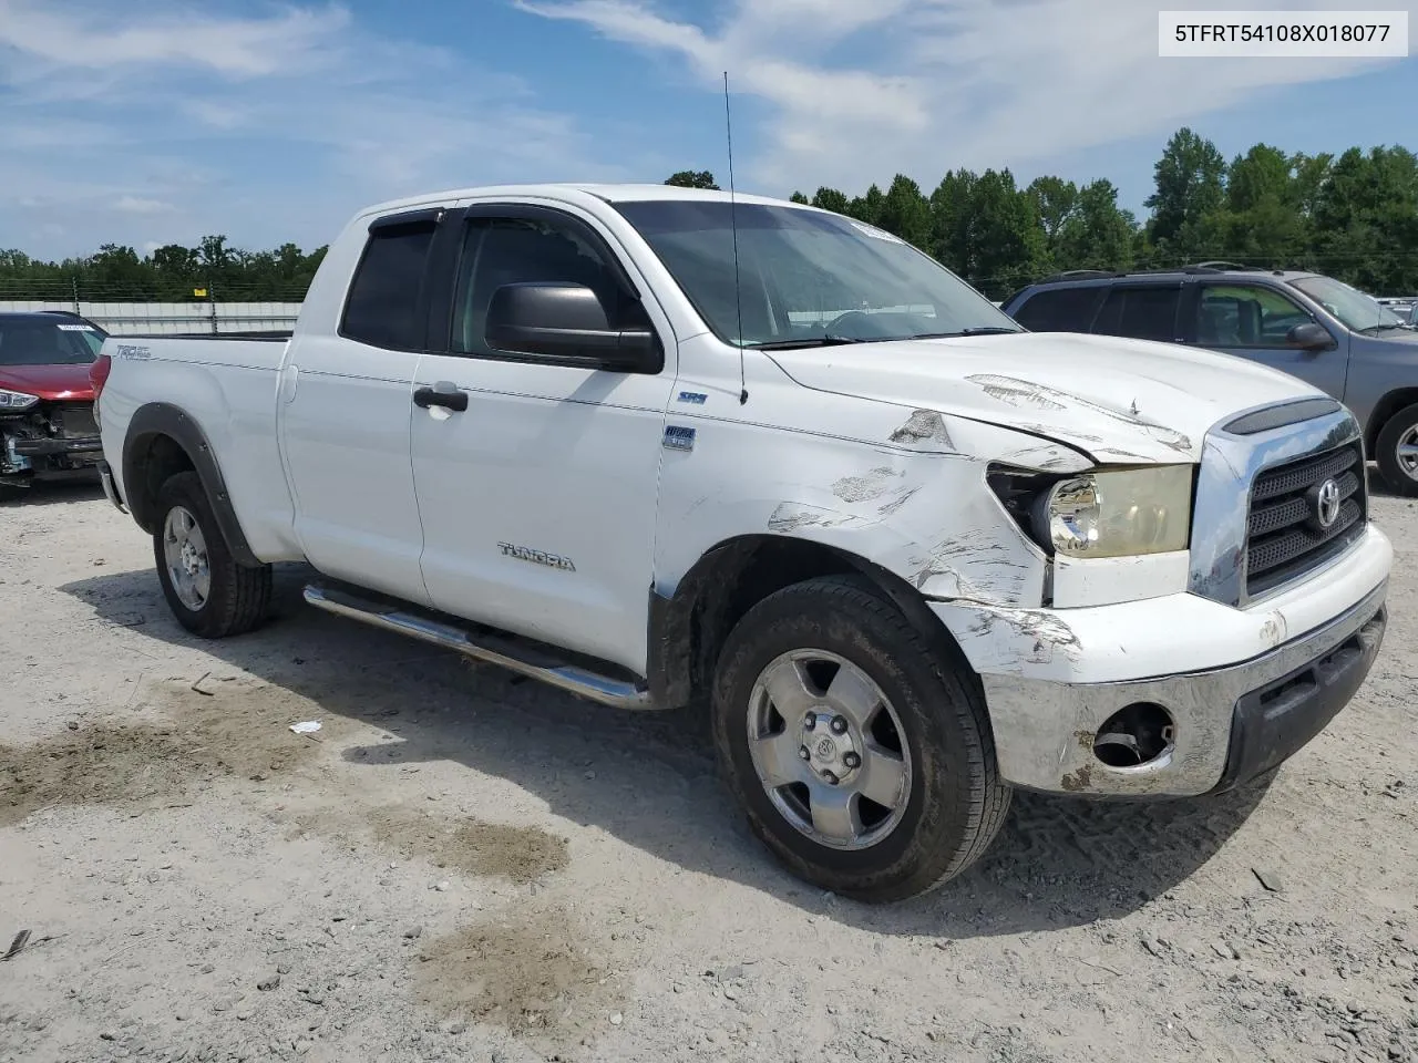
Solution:
[[[993,299],[1065,269],[1156,269],[1225,261],[1310,269],[1371,295],[1418,292],[1418,157],[1405,147],[1286,153],[1258,143],[1229,162],[1180,129],[1153,167],[1139,220],[1099,179],[951,170],[932,193],[905,174],[848,197],[821,187],[795,203],[847,214],[909,241]],[[666,184],[716,189],[710,171]]]

